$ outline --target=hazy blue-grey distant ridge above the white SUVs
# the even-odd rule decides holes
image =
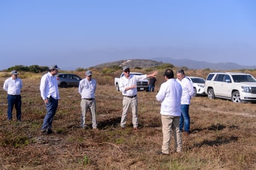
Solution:
[[[186,66],[190,69],[217,69],[217,70],[230,70],[230,69],[256,69],[254,66],[242,66],[236,63],[208,63],[206,61],[194,61],[189,59],[172,59],[172,58],[152,58],[152,60],[162,61],[163,63],[171,63],[172,65],[181,67]]]

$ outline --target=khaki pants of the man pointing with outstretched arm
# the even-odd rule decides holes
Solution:
[[[132,125],[134,125],[134,127],[138,127],[137,105],[137,97],[124,97],[122,100],[121,127],[126,127],[127,112],[129,107],[132,109]]]

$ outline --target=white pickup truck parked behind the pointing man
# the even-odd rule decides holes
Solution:
[[[130,72],[130,75],[142,75],[142,73],[136,73],[136,72]],[[124,73],[121,74],[120,78],[124,76]],[[119,79],[120,78],[115,78],[115,86],[116,90],[119,91]],[[137,91],[149,91],[149,84],[148,84],[148,79],[144,79],[143,81],[138,81],[137,82]]]

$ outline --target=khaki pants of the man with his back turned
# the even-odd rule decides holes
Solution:
[[[163,131],[163,144],[162,153],[169,154],[171,132],[175,140],[175,151],[180,152],[182,148],[181,134],[180,134],[180,117],[162,115],[162,131]]]

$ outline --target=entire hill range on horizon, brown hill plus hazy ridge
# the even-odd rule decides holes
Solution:
[[[194,61],[189,59],[172,59],[172,58],[152,58],[152,60],[130,59],[112,61],[109,63],[102,63],[94,66],[95,68],[108,67],[113,65],[123,66],[129,65],[130,67],[148,68],[152,66],[163,65],[163,63],[170,63],[171,65],[182,67],[185,66],[189,69],[215,69],[215,70],[232,70],[232,69],[256,69],[255,66],[242,66],[236,63],[208,63],[206,61]]]

